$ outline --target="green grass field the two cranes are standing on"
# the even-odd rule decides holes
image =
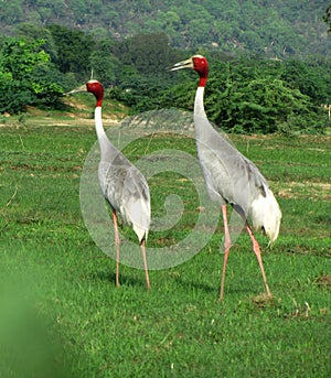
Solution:
[[[115,262],[79,207],[93,120],[29,118],[0,136],[0,377],[330,377],[330,137],[232,138],[269,180],[282,224],[271,249],[257,235],[274,300],[258,300],[263,280],[243,234],[220,303],[222,222],[192,259],[151,271],[149,293],[143,272],[126,266],[115,288]],[[146,143],[169,140],[141,141],[130,159]],[[171,143],[195,153],[192,141]],[[190,185],[169,183],[150,183],[154,212],[171,191],[194,198]],[[196,204],[184,203],[181,222],[151,233],[150,246],[192,227]]]

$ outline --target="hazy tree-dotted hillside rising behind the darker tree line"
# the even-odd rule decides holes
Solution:
[[[122,40],[166,32],[173,47],[253,52],[268,57],[330,53],[323,15],[328,0],[10,0],[0,2],[0,28],[61,24]]]

